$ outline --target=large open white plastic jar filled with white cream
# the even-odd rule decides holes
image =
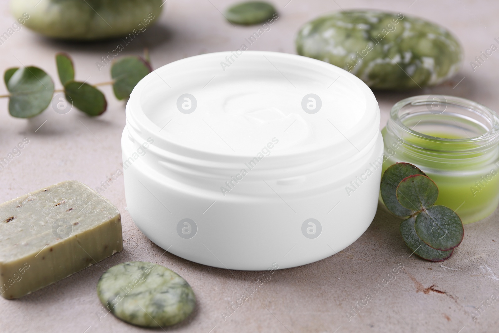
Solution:
[[[128,211],[179,257],[294,267],[343,250],[374,218],[378,103],[334,65],[264,51],[193,56],[144,77],[126,118]]]

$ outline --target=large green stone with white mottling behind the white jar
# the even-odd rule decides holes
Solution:
[[[458,40],[421,18],[373,10],[319,17],[301,27],[300,55],[346,69],[375,89],[412,89],[439,84],[463,60]]]

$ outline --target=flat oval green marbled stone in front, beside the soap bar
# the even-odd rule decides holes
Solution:
[[[180,323],[196,306],[191,286],[180,275],[143,261],[108,269],[97,283],[97,296],[114,316],[149,328]]]

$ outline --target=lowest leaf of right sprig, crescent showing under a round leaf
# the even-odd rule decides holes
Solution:
[[[400,224],[400,234],[402,239],[406,243],[407,247],[418,257],[429,260],[429,261],[444,261],[452,256],[454,250],[451,251],[439,251],[435,250],[428,245],[426,245],[416,233],[414,229],[414,223],[416,218],[410,217],[407,220],[402,221]]]

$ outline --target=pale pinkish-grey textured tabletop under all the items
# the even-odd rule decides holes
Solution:
[[[123,54],[140,54],[149,47],[155,68],[171,61],[206,52],[236,49],[256,27],[237,27],[220,13],[233,1],[169,0],[159,25],[148,28],[126,46]],[[473,72],[470,66],[499,36],[497,1],[474,0],[276,0],[280,18],[250,49],[294,53],[298,27],[341,8],[379,8],[402,11],[439,22],[460,37],[466,57],[463,69],[440,87],[404,93],[375,92],[386,122],[398,100],[420,93],[437,92],[470,98],[499,110],[499,53],[495,52]],[[287,3],[288,2],[288,3]],[[14,19],[1,0],[0,33]],[[287,3],[287,5],[286,5]],[[412,5],[411,5],[412,3]],[[90,83],[109,80],[95,62],[116,48],[116,41],[93,44],[48,40],[23,27],[0,45],[0,69],[34,64],[56,77],[54,53],[69,52],[76,77]],[[459,80],[462,80],[453,88]],[[56,83],[60,88],[60,84]],[[30,121],[8,115],[0,100],[0,157],[6,156],[24,137],[29,143],[0,171],[0,201],[6,201],[66,179],[80,180],[95,188],[120,167],[120,136],[125,124],[124,103],[109,87],[107,112],[90,119],[79,111],[59,115],[47,109]],[[0,85],[0,94],[5,87]],[[46,120],[46,122],[45,122]],[[38,128],[40,125],[42,125]],[[37,130],[38,129],[38,130]],[[37,130],[35,132],[35,130]],[[499,296],[499,229],[496,212],[485,221],[465,227],[465,238],[454,256],[444,263],[430,263],[414,256],[403,243],[398,222],[378,210],[371,227],[344,251],[310,265],[276,271],[271,280],[223,319],[231,301],[262,277],[263,272],[239,272],[211,268],[180,259],[149,241],[126,211],[123,177],[104,193],[118,207],[123,220],[123,252],[99,265],[59,281],[15,301],[0,299],[0,332],[141,332],[106,315],[95,292],[98,278],[117,263],[143,260],[158,263],[181,274],[198,298],[195,314],[168,332],[497,332],[499,300],[474,322],[475,307]],[[345,221],[348,223],[348,221]],[[397,265],[404,268],[379,293]],[[378,287],[378,289],[380,289]],[[348,319],[347,313],[366,295],[373,300]],[[212,330],[212,331],[210,331]],[[335,331],[337,330],[337,331]],[[461,330],[461,331],[460,331]],[[162,332],[162,330],[158,330]]]

